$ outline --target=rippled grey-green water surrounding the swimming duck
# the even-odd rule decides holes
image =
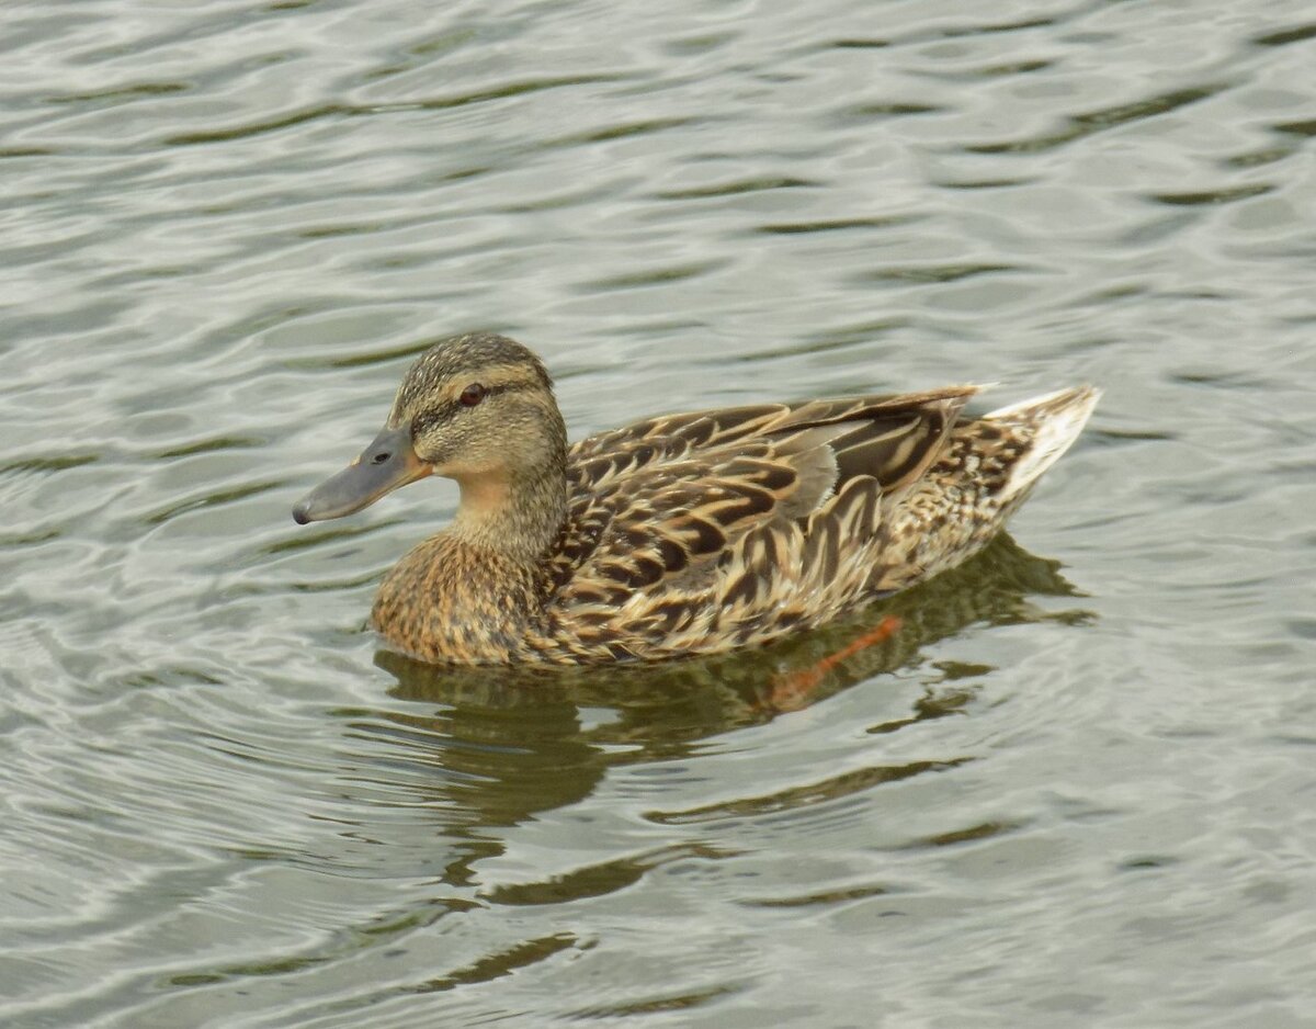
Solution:
[[[7,1026],[1298,1026],[1308,5],[0,11]],[[299,529],[411,355],[575,436],[1105,400],[1001,540],[762,654],[526,684]]]

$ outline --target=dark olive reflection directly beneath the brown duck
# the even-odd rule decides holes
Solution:
[[[470,836],[476,826],[511,826],[584,800],[612,767],[692,757],[713,737],[890,672],[903,674],[873,687],[908,691],[916,683],[908,715],[869,732],[967,713],[975,684],[994,668],[986,662],[928,665],[924,650],[974,625],[1084,622],[1088,612],[1044,609],[1033,600],[1078,595],[1058,568],[1003,534],[962,567],[846,621],[757,650],[655,666],[462,668],[383,650],[376,663],[396,678],[391,695],[438,711],[380,711],[353,729],[358,737],[387,738],[400,745],[391,747],[395,758],[426,766],[422,776],[408,776],[408,788],[426,782],[428,803],[461,824],[449,829]],[[854,646],[888,618],[899,629]],[[876,766],[863,783],[838,776],[811,784],[808,803],[973,757]],[[458,863],[496,853],[497,842],[480,838]],[[458,879],[468,874],[451,871]]]

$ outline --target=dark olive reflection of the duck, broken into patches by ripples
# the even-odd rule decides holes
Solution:
[[[873,709],[884,713],[869,732],[900,733],[971,713],[976,690],[992,671],[991,658],[975,659],[971,642],[957,646],[969,654],[957,662],[933,663],[923,653],[975,625],[1090,617],[1062,600],[1074,596],[1055,562],[1028,554],[1001,534],[959,568],[851,618],[734,654],[608,668],[441,667],[379,650],[376,662],[396,683],[390,688],[392,699],[376,709],[349,709],[349,750],[357,755],[353,774],[362,775],[359,766],[374,762],[366,778],[387,784],[390,804],[397,803],[399,792],[420,796],[453,840],[446,882],[496,880],[496,874],[474,868],[504,851],[501,826],[580,804],[613,768],[688,767],[686,762],[709,741],[775,718],[782,683],[846,650],[886,615],[900,618],[899,633],[833,666],[809,696],[792,696],[790,707],[904,670],[900,676],[871,682],[871,688],[880,690]],[[1045,597],[1057,599],[1045,604],[1050,611],[1037,603]],[[987,642],[982,650],[990,650]],[[944,740],[949,741],[944,753],[917,747],[917,759],[878,759],[862,770],[821,767],[807,788],[795,780],[758,783],[751,796],[726,801],[730,807],[722,813],[779,815],[974,759],[963,736],[951,733]],[[717,808],[691,812],[678,805],[647,811],[645,817],[684,822],[717,813]],[[651,863],[680,858],[684,846],[675,842],[670,850],[641,855],[628,851],[613,862],[499,887],[488,896],[517,904],[595,896],[634,882]]]

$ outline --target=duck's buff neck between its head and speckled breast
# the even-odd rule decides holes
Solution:
[[[447,534],[521,566],[533,566],[557,542],[567,513],[562,463],[457,480],[462,500]]]

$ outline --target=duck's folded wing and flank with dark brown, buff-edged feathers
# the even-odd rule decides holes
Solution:
[[[976,391],[669,414],[580,441],[550,618],[651,657],[833,617],[871,592],[883,512]]]

